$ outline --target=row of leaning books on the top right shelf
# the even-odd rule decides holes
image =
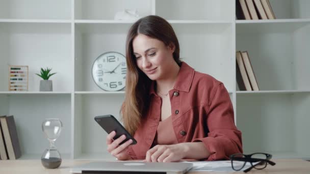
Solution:
[[[236,0],[237,19],[275,19],[269,0]]]

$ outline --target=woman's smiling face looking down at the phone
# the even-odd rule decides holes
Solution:
[[[172,53],[174,46],[139,34],[133,40],[133,50],[139,69],[151,80],[165,79],[170,67],[175,64]]]

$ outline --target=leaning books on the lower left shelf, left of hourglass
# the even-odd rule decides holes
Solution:
[[[20,146],[13,115],[0,117],[0,159],[18,159]]]

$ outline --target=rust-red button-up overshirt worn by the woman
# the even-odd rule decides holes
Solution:
[[[161,118],[162,100],[154,84],[149,93],[148,111],[134,135],[138,143],[127,151],[133,159],[145,159]],[[203,142],[211,153],[206,160],[229,159],[229,155],[243,152],[233,105],[222,82],[196,72],[183,62],[169,97],[173,130],[179,143]]]

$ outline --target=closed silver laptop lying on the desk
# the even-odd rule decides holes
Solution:
[[[136,162],[102,161],[90,162],[70,168],[71,173],[185,173],[193,166],[185,162]]]

